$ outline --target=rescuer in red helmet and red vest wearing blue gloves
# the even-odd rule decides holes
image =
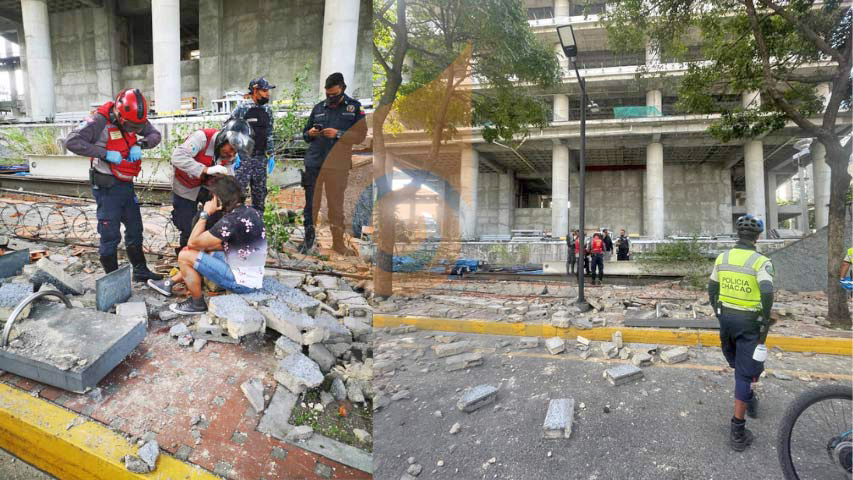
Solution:
[[[133,265],[133,280],[163,278],[148,269],[142,252],[142,213],[133,190],[141,171],[142,149],[160,143],[160,132],[148,121],[148,104],[139,89],[122,90],[78,125],[65,139],[65,148],[90,157],[89,179],[98,205],[98,253],[106,273],[118,268],[116,250],[121,242]]]

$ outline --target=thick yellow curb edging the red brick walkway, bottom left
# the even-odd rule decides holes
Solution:
[[[157,469],[128,472],[121,458],[136,446],[93,420],[67,428],[73,412],[0,384],[0,447],[62,480],[216,480],[202,468],[160,455]]]

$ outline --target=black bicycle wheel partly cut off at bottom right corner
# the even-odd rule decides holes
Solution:
[[[787,480],[853,478],[853,388],[824,385],[809,390],[785,411],[776,439]]]

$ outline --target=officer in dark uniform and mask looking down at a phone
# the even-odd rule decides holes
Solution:
[[[311,110],[311,116],[302,131],[310,145],[305,154],[305,239],[299,246],[307,253],[314,246],[317,213],[320,210],[323,190],[329,206],[332,227],[332,248],[343,255],[352,254],[344,244],[344,191],[352,168],[352,146],[367,135],[367,124],[361,103],[344,92],[344,76],[333,73],[326,78],[326,100]]]

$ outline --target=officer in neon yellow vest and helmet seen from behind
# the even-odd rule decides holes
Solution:
[[[738,242],[714,263],[708,296],[720,321],[723,355],[735,370],[735,408],[729,444],[740,452],[753,440],[744,414],[758,416],[752,383],[764,371],[764,339],[773,306],[773,265],[755,251],[764,222],[744,215],[736,223]],[[756,351],[757,350],[757,351]]]

